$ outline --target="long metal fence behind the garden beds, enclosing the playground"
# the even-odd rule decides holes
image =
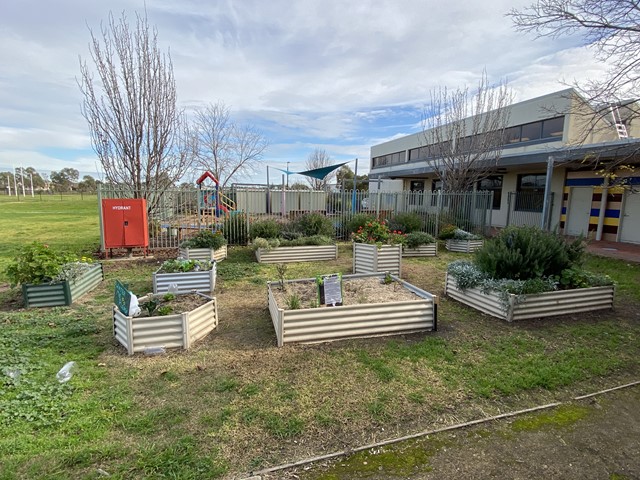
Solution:
[[[140,198],[131,188],[100,185],[98,200]],[[349,238],[356,214],[392,220],[400,213],[419,215],[423,230],[437,236],[445,224],[487,234],[493,193],[384,192],[367,190],[287,190],[267,187],[167,189],[146,192],[150,248],[176,248],[200,229],[222,230],[231,245],[246,245],[250,225],[260,219],[291,220],[308,212],[331,218],[336,239]]]

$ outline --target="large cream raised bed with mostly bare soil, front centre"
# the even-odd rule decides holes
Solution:
[[[268,282],[278,346],[436,330],[437,297],[395,275],[385,284],[385,277],[381,273],[345,275],[343,305],[317,308],[308,306],[317,298],[315,279],[285,281],[284,291],[280,282]],[[294,292],[302,308],[291,310],[287,296]]]

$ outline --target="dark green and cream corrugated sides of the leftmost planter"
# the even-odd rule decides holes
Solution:
[[[93,290],[104,279],[101,263],[95,263],[75,280],[34,285],[22,285],[22,298],[29,307],[60,307],[71,305],[85,293]]]

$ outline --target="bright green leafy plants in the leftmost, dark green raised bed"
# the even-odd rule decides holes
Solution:
[[[44,243],[33,242],[22,247],[16,259],[6,269],[12,286],[18,284],[53,283],[74,280],[86,272],[93,259],[59,253]]]

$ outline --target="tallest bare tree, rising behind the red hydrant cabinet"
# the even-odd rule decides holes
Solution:
[[[171,57],[160,51],[146,14],[131,27],[123,13],[91,29],[94,70],[80,59],[82,114],[108,183],[129,186],[153,211],[157,192],[190,167],[191,145],[177,107]]]

